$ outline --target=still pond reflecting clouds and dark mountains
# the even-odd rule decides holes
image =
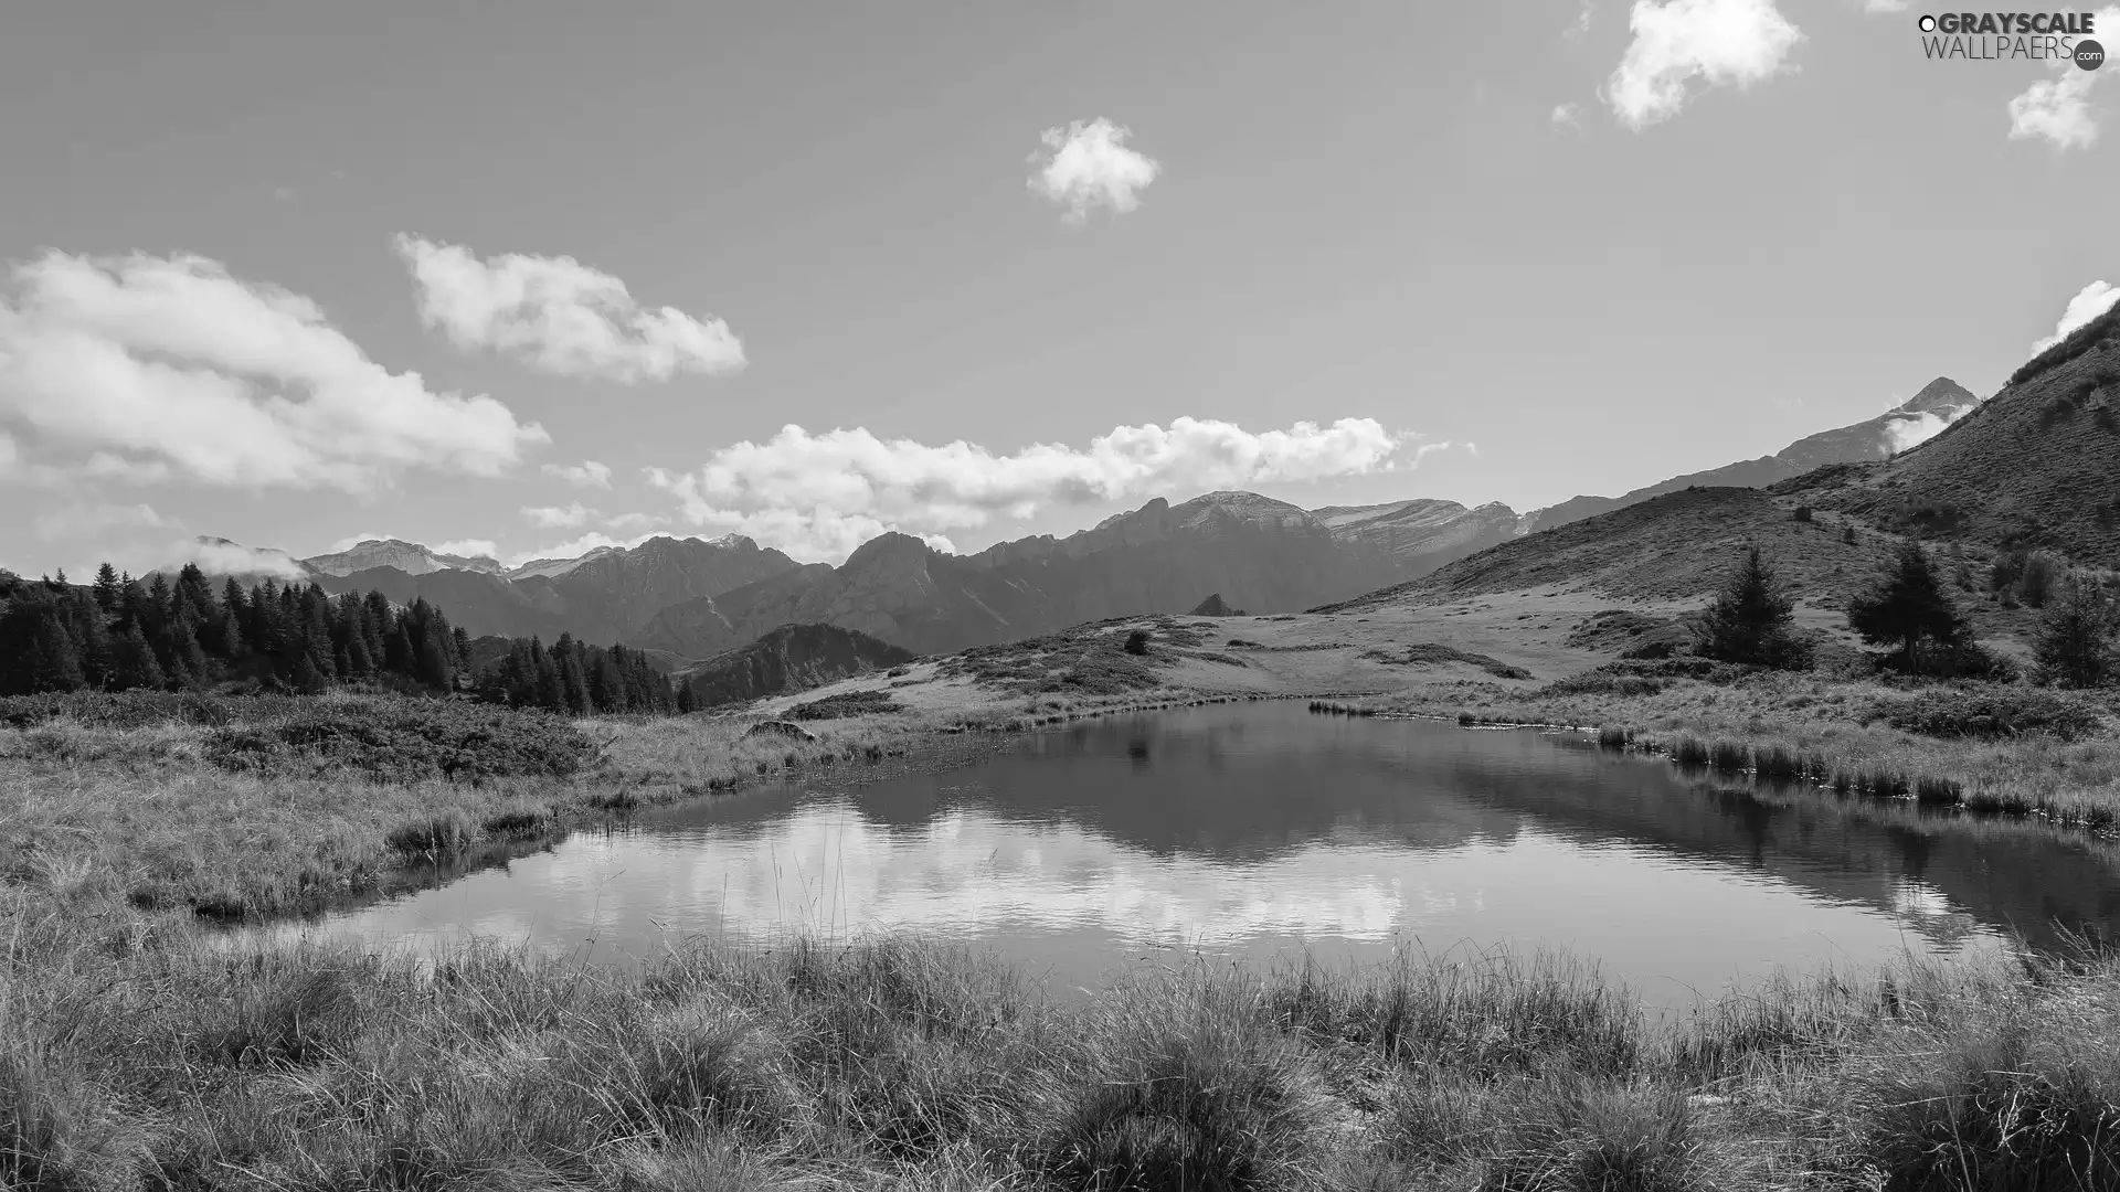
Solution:
[[[1535,732],[1295,702],[1090,721],[946,774],[687,804],[320,925],[644,954],[920,929],[1056,991],[1130,957],[1562,946],[1679,1005],[1777,967],[2120,925],[2112,844],[1726,789]]]

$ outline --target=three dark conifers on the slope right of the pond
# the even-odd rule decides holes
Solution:
[[[1963,571],[1963,562],[1961,562]],[[2120,596],[2092,573],[2069,573],[2050,556],[1997,556],[1997,590],[2008,583],[2042,609],[2033,634],[2037,679],[2101,687],[2120,679]],[[2008,575],[2006,575],[2008,573]],[[1961,588],[1969,583],[1961,581]],[[1757,666],[1808,666],[1796,609],[1757,547],[1745,554],[1696,632],[1696,653]],[[1942,568],[1919,541],[1893,551],[1878,581],[1849,600],[1849,628],[1887,647],[1883,664],[1910,674],[2006,677],[2010,666],[1974,643],[1972,621],[1950,596]]]

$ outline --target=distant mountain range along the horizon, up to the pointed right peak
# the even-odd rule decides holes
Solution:
[[[780,626],[812,624],[946,653],[1107,617],[1179,613],[1211,594],[1251,613],[1342,602],[1685,488],[1762,488],[1827,464],[1887,462],[1900,445],[1965,422],[1978,407],[1963,386],[1938,378],[1878,418],[1810,435],[1772,456],[1524,515],[1499,503],[1420,498],[1300,509],[1253,492],[1211,492],[1179,505],[1155,498],[1075,534],[1026,537],[969,556],[886,532],[837,566],[797,564],[736,534],[655,537],[519,566],[369,539],[290,562],[329,592],[426,598],[475,636],[572,632],[706,660]],[[2095,420],[2095,411],[2084,418]],[[1863,501],[1853,492],[1842,498]]]

